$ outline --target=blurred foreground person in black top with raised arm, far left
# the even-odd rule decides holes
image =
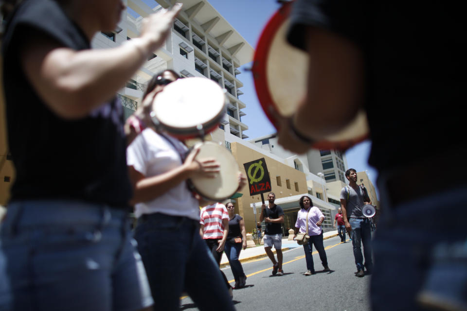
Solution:
[[[181,5],[149,15],[138,37],[105,50],[90,42],[116,29],[123,1],[8,0],[1,9],[16,179],[1,224],[0,309],[150,308],[115,94],[165,42]]]

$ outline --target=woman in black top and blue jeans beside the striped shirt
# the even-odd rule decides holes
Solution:
[[[229,259],[232,274],[234,274],[234,288],[237,289],[244,287],[247,280],[247,276],[245,276],[243,272],[242,264],[240,260],[238,260],[242,247],[243,249],[247,248],[245,222],[240,215],[234,213],[233,203],[227,203],[225,206],[229,212],[229,234],[227,235],[224,251],[225,255],[227,255],[227,259]]]

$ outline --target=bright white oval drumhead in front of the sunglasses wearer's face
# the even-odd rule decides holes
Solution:
[[[190,131],[222,115],[225,102],[225,93],[216,82],[191,77],[165,86],[154,100],[153,112],[162,125]]]

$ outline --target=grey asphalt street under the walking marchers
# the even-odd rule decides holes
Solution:
[[[368,287],[371,276],[355,276],[352,242],[340,243],[340,238],[336,237],[325,240],[324,247],[331,271],[323,271],[319,255],[313,249],[317,273],[311,276],[304,276],[307,269],[302,246],[284,252],[284,276],[272,276],[269,258],[243,263],[248,278],[245,288],[234,290],[235,308],[238,311],[370,310]],[[230,266],[222,270],[234,284]],[[198,310],[189,297],[180,302],[181,310]]]

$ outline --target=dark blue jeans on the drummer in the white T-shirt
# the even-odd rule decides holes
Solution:
[[[179,310],[183,291],[200,310],[235,310],[219,267],[199,236],[197,221],[143,215],[135,238],[158,310]]]

